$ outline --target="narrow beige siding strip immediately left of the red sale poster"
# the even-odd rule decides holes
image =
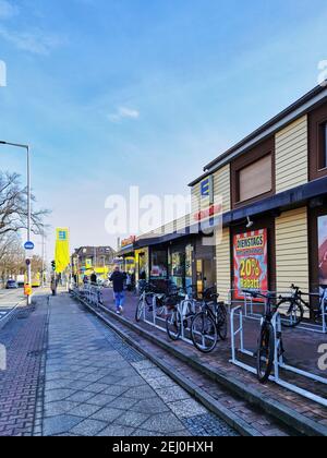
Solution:
[[[222,229],[222,233],[220,236],[217,233],[216,238],[217,290],[219,299],[227,301],[231,289],[230,229]]]

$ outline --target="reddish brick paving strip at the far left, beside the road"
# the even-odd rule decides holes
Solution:
[[[36,311],[17,311],[0,332],[7,349],[7,370],[0,371],[0,436],[31,436],[47,321],[46,298],[36,299]]]

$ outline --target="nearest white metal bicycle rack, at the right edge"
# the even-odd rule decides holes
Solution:
[[[238,315],[237,315],[238,312]],[[239,327],[235,328],[235,316],[239,317]],[[263,318],[262,318],[263,320]],[[293,391],[302,397],[305,397],[314,402],[319,403],[320,406],[327,407],[327,398],[323,398],[320,396],[315,395],[314,393],[311,393],[306,389],[303,389],[294,384],[288,383],[283,379],[281,379],[280,376],[280,371],[287,371],[287,372],[292,372],[294,374],[298,374],[302,377],[312,379],[314,382],[327,385],[327,378],[320,377],[316,374],[313,374],[311,372],[306,372],[306,371],[302,371],[298,367],[288,365],[284,363],[283,361],[283,357],[281,354],[280,347],[281,347],[281,334],[282,334],[282,325],[281,325],[281,316],[279,314],[279,312],[276,312],[274,315],[274,318],[271,321],[272,327],[274,327],[274,334],[275,334],[275,360],[274,360],[274,369],[275,369],[275,373],[274,375],[271,375],[269,377],[270,382],[275,382],[277,385]],[[237,348],[237,337],[239,336],[240,338],[240,348]],[[253,351],[249,351],[245,349],[244,347],[244,314],[243,314],[243,310],[242,306],[239,305],[237,308],[234,308],[231,311],[231,350],[232,350],[232,359],[230,360],[230,362],[247,372],[251,372],[252,374],[257,374],[256,369],[254,369],[253,366],[243,363],[242,361],[240,361],[238,359],[238,351],[249,355],[249,357],[253,357],[255,358],[255,353]]]

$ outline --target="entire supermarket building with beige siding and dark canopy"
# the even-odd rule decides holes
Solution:
[[[136,277],[142,268],[152,280],[217,286],[225,299],[292,284],[318,291],[327,285],[327,87],[213,160],[190,188],[191,215],[135,240]],[[202,220],[219,225],[214,243]]]

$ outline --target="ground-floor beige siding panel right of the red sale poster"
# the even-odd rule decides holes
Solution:
[[[277,290],[289,291],[292,284],[308,290],[308,237],[306,207],[276,218]]]

